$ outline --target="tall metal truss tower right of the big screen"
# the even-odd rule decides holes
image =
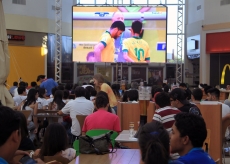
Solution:
[[[182,83],[182,41],[183,35],[183,0],[178,0],[178,12],[177,12],[177,64],[176,64],[176,82]]]

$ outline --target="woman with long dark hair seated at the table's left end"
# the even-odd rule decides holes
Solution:
[[[22,107],[23,110],[31,110],[31,113],[27,119],[28,121],[28,130],[32,131],[34,130],[34,133],[37,133],[38,130],[38,120],[37,117],[34,117],[33,115],[37,114],[38,110],[38,103],[36,102],[38,99],[38,91],[36,89],[30,89],[27,95],[27,98],[25,100],[25,103]],[[32,120],[33,117],[33,120]],[[30,136],[31,140],[34,139],[33,136]]]

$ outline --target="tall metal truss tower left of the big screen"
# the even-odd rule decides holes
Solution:
[[[55,81],[61,83],[62,65],[62,0],[55,0]]]

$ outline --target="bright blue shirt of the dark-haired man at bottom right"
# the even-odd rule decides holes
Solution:
[[[202,148],[193,148],[187,154],[178,158],[177,161],[184,164],[215,164],[214,160]]]

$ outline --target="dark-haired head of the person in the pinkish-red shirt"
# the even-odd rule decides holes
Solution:
[[[95,100],[95,106],[97,109],[104,108],[108,110],[109,107],[109,97],[106,92],[98,92]]]

